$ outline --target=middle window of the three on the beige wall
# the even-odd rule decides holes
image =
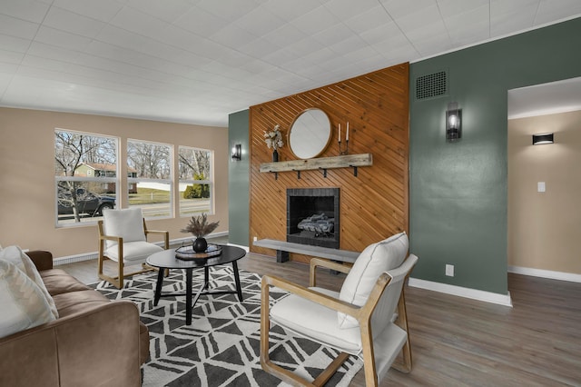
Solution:
[[[172,216],[172,146],[127,141],[129,206],[146,218]]]

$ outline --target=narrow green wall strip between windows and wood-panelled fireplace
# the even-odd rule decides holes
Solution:
[[[248,145],[249,110],[228,116],[228,144],[242,145],[242,160],[230,160],[228,167],[228,242],[248,246],[250,219],[250,149]]]

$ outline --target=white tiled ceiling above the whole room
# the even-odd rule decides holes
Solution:
[[[0,105],[226,126],[579,15],[579,0],[0,0]]]

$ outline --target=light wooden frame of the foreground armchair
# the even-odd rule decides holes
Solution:
[[[317,267],[325,267],[331,270],[335,270],[340,273],[349,273],[350,266],[334,263],[320,258],[313,258],[310,260],[310,286],[316,286],[316,271]],[[411,272],[411,271],[410,271]],[[409,275],[409,274],[408,274]],[[405,281],[404,279],[404,284]],[[345,313],[353,316],[359,322],[359,329],[361,334],[361,345],[362,345],[362,355],[363,364],[365,372],[365,381],[367,386],[377,386],[378,385],[378,375],[375,367],[375,357],[373,352],[373,336],[371,333],[371,315],[375,310],[381,294],[385,291],[385,288],[391,281],[391,277],[388,273],[382,273],[377,282],[375,283],[373,290],[369,294],[369,299],[367,303],[363,306],[357,306],[351,303],[346,303],[340,301],[339,299],[330,297],[329,295],[314,292],[308,288],[300,286],[296,283],[291,283],[280,277],[264,275],[261,281],[261,366],[266,372],[269,372],[277,377],[279,377],[283,382],[291,383],[291,385],[300,386],[321,386],[329,381],[330,377],[337,372],[341,364],[345,362],[350,354],[347,352],[341,352],[329,366],[320,373],[317,378],[309,382],[299,375],[282,368],[281,366],[271,362],[269,357],[269,332],[271,328],[270,320],[270,303],[269,303],[269,289],[271,286],[276,286],[290,293],[294,293],[310,300],[314,303],[320,303],[321,305],[327,306],[331,309],[336,310],[340,313]],[[408,316],[406,311],[406,303],[404,297],[404,288],[401,289],[401,294],[399,296],[398,303],[398,317],[395,322],[401,329],[408,333],[408,338],[404,344],[401,353],[401,359],[393,362],[392,367],[400,372],[408,373],[411,371],[411,347],[409,342],[409,327],[408,327]]]

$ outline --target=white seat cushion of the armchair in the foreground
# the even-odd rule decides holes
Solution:
[[[310,289],[335,298],[339,296],[339,293],[323,288]],[[270,314],[274,323],[313,342],[330,345],[351,354],[358,354],[361,350],[359,327],[341,329],[337,312],[319,303],[291,294],[275,303]]]

